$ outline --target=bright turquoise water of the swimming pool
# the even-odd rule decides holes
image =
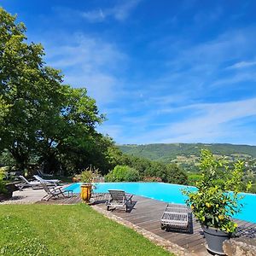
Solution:
[[[80,193],[81,183],[73,183],[67,189],[72,189],[74,193]],[[188,186],[170,184],[170,183],[96,183],[97,193],[107,193],[108,189],[123,189],[127,193],[133,195],[142,195],[155,200],[171,202],[171,203],[184,203],[186,197],[182,195],[181,189]],[[189,189],[195,189],[189,187]],[[256,223],[256,195],[241,193],[244,198],[241,203],[244,205],[241,212],[236,214],[234,218],[250,221]]]

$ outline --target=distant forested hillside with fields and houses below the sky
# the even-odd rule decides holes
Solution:
[[[230,163],[243,160],[245,163],[244,180],[251,181],[251,192],[256,193],[256,146],[233,144],[204,144],[204,143],[172,143],[146,145],[119,145],[120,150],[134,157],[177,165],[187,173],[189,184],[195,184],[201,177],[199,170],[201,149],[211,150],[217,158],[225,158]]]

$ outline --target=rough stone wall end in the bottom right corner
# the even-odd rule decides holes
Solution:
[[[224,241],[223,248],[228,256],[256,256],[256,239],[230,239]]]

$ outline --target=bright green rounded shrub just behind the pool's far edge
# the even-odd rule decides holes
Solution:
[[[115,166],[105,178],[108,182],[136,182],[139,180],[139,172],[129,166]]]

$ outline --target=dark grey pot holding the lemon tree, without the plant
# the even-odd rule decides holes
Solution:
[[[223,242],[230,239],[230,234],[214,228],[202,226],[207,241],[207,250],[218,255],[225,255]]]

